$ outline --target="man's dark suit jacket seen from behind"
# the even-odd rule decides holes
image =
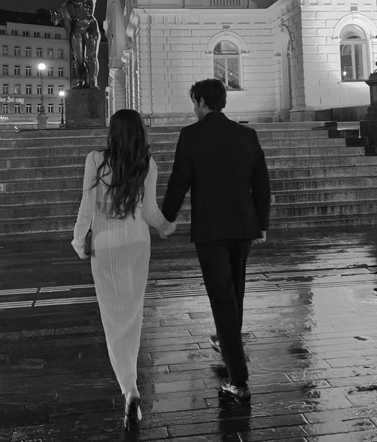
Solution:
[[[269,177],[254,129],[210,112],[181,130],[162,213],[174,221],[191,187],[191,241],[254,239],[268,225]]]

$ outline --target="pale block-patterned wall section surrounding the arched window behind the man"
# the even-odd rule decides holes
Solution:
[[[275,47],[265,10],[233,10],[231,17],[223,10],[133,13],[127,32],[140,35],[142,113],[192,113],[192,84],[213,77],[213,49],[230,39],[240,50],[241,90],[228,92],[227,112],[274,114]]]

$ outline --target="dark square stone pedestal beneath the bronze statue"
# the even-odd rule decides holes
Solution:
[[[106,95],[101,89],[66,91],[66,127],[106,127]]]

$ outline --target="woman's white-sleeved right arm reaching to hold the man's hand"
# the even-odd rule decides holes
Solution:
[[[157,165],[152,157],[150,158],[149,172],[145,178],[144,186],[145,191],[141,211],[145,221],[163,234],[170,235],[174,231],[175,226],[165,219],[158,208],[156,200]]]

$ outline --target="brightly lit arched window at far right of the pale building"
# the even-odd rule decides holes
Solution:
[[[368,51],[364,31],[358,26],[347,25],[340,33],[340,38],[342,82],[366,79]]]

